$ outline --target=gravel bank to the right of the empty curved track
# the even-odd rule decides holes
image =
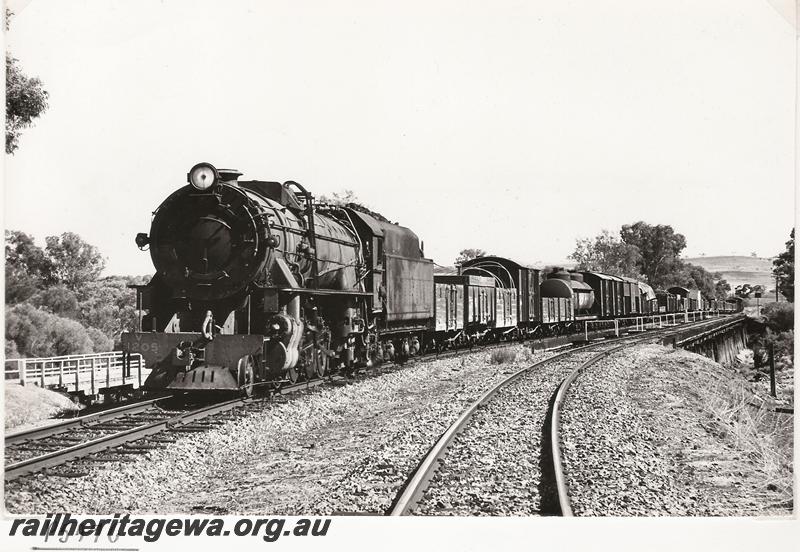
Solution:
[[[733,370],[656,345],[589,368],[562,414],[575,514],[790,515],[791,418],[748,397]]]

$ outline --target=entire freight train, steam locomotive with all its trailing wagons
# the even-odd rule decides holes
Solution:
[[[502,257],[434,274],[410,229],[296,182],[199,163],[136,236],[155,274],[123,349],[149,389],[234,391],[323,377],[479,341],[580,331],[589,320],[732,310],[698,292]]]

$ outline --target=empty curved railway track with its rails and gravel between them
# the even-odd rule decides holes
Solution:
[[[569,383],[617,350],[675,331],[589,344],[510,374],[440,436],[387,513],[569,515],[558,435]]]

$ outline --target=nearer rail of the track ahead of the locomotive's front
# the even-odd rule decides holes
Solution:
[[[238,406],[244,406],[252,402],[254,402],[253,399],[234,399],[213,404],[197,410],[184,412],[171,418],[151,422],[149,424],[117,433],[112,433],[110,435],[104,435],[91,441],[78,443],[77,445],[73,445],[71,447],[42,454],[40,456],[16,462],[14,464],[9,464],[5,467],[5,479],[16,479],[17,477],[37,472],[43,468],[57,466],[70,460],[82,458],[94,452],[100,452],[111,447],[137,441],[143,437],[149,437],[150,435],[155,435],[169,429],[178,428],[182,425],[213,416],[214,414],[219,414],[220,412],[231,410]]]

